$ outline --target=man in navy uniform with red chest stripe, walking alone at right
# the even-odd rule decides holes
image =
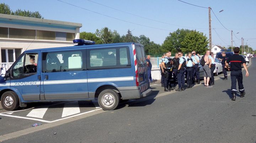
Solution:
[[[233,95],[233,97],[231,98],[231,100],[235,101],[236,98],[236,80],[238,81],[238,89],[240,92],[240,97],[244,97],[245,96],[245,90],[244,90],[244,85],[242,84],[242,67],[241,64],[244,66],[244,69],[246,71],[245,76],[249,76],[249,72],[247,70],[246,67],[246,61],[244,59],[244,57],[239,55],[239,51],[240,48],[239,47],[235,47],[234,48],[234,55],[232,55],[231,57],[228,58],[228,60],[226,61],[226,67],[229,68],[228,63],[230,63],[230,77],[231,77],[231,93]]]

